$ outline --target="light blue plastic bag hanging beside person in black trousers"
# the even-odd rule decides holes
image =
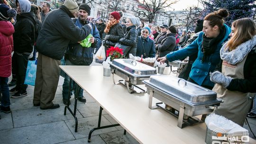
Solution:
[[[37,76],[37,60],[28,61],[27,63],[27,72],[24,84],[35,86]]]

